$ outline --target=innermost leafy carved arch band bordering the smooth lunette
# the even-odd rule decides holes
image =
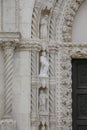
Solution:
[[[62,34],[63,34],[64,42],[72,41],[73,22],[82,2],[84,2],[84,0],[74,0],[71,2],[70,6],[67,8],[67,11],[64,16],[64,23],[62,26]]]

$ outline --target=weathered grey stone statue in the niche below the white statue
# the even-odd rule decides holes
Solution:
[[[46,93],[41,90],[40,91],[40,96],[39,96],[39,112],[40,113],[46,113],[47,111],[47,95]]]

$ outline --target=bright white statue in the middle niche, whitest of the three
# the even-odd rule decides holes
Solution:
[[[49,68],[49,63],[46,57],[46,52],[42,52],[42,56],[40,57],[40,63],[41,63],[41,68],[40,68],[40,77],[48,77],[48,68]]]

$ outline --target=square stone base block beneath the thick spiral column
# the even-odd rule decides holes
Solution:
[[[16,130],[16,121],[10,118],[0,120],[0,130]]]

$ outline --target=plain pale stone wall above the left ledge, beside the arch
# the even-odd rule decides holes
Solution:
[[[34,0],[0,0],[0,32],[20,32],[29,39],[33,6]]]

